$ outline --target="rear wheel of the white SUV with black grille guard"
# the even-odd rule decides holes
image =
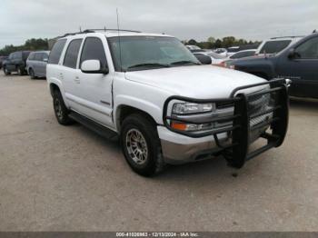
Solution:
[[[53,107],[55,109],[55,117],[59,124],[74,124],[74,121],[68,116],[70,111],[66,108],[62,94],[55,90],[53,94]]]

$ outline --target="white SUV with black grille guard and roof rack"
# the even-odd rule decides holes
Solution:
[[[220,154],[240,168],[281,145],[287,130],[284,80],[203,65],[169,35],[65,35],[46,76],[57,121],[119,137],[128,164],[145,176]],[[249,152],[260,137],[266,143]]]

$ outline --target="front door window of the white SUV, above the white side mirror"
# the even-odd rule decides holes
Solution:
[[[87,37],[81,55],[81,64],[85,60],[99,60],[102,65],[107,64],[104,46],[101,39],[96,37]]]

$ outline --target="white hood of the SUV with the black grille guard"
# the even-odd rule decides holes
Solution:
[[[229,97],[239,86],[258,84],[264,79],[252,74],[212,65],[194,65],[125,73],[128,80],[163,89],[173,95],[197,99]],[[244,92],[262,90],[265,86]]]

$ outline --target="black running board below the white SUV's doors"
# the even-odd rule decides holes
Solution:
[[[94,133],[99,134],[108,140],[113,141],[118,139],[117,133],[104,127],[102,124],[95,123],[93,120],[85,117],[84,115],[71,112],[70,114],[68,114],[68,116],[75,120],[77,123],[83,124],[88,129],[94,131]]]

